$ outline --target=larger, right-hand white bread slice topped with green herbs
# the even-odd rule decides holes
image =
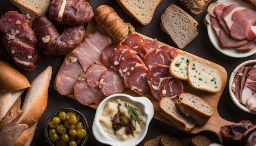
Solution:
[[[222,88],[218,69],[200,60],[189,63],[189,84],[193,88],[211,93],[219,92]]]

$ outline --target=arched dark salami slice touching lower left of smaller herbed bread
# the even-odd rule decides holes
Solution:
[[[163,64],[156,64],[153,66],[148,73],[148,85],[150,84],[151,78],[155,75],[159,75],[160,73],[167,73],[170,75],[169,66]]]

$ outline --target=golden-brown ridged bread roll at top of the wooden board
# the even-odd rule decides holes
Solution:
[[[124,40],[129,32],[128,26],[124,23],[114,9],[107,5],[99,6],[94,13],[94,18],[99,26],[116,41]]]

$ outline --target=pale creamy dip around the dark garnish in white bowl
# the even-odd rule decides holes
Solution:
[[[117,130],[116,133],[112,128],[111,120],[112,120],[112,117],[116,113],[118,113],[118,109],[117,109],[118,104],[121,104],[120,113],[123,114],[124,116],[130,117],[130,113],[128,113],[128,108],[126,107],[125,102],[126,104],[129,103],[130,106],[137,108],[141,114],[139,116],[139,119],[141,120],[140,125],[137,123],[135,126],[135,122],[133,120],[130,120],[130,124],[136,128],[133,135],[131,133],[128,135],[126,134],[125,126],[122,126],[122,128]],[[128,140],[134,139],[135,137],[137,137],[137,135],[141,133],[145,120],[146,118],[142,115],[141,109],[138,106],[136,106],[136,104],[132,104],[125,100],[116,99],[116,100],[111,100],[110,102],[108,102],[108,104],[106,104],[99,118],[99,123],[101,124],[103,131],[105,131],[108,134],[108,136],[111,137],[112,139],[115,139],[118,141],[128,141]]]

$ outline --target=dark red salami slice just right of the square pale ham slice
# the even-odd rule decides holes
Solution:
[[[119,46],[120,43],[111,43],[102,50],[101,60],[105,66],[112,67],[112,56]]]

